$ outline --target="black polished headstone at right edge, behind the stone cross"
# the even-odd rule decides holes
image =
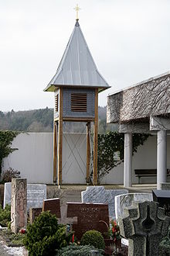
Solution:
[[[159,203],[159,207],[165,209],[165,215],[170,216],[170,190],[152,190],[153,200]]]

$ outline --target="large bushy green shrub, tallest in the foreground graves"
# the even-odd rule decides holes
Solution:
[[[66,227],[58,225],[55,215],[42,212],[27,228],[23,243],[30,256],[55,255],[56,249],[65,247],[69,238]]]

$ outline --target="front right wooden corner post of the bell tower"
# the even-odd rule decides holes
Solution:
[[[95,89],[93,123],[93,185],[97,185],[97,146],[98,146],[98,89]]]

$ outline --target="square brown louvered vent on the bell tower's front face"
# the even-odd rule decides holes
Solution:
[[[71,111],[87,112],[87,93],[71,94]]]

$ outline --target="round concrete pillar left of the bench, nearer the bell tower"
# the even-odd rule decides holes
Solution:
[[[132,133],[124,133],[124,188],[132,184]]]

